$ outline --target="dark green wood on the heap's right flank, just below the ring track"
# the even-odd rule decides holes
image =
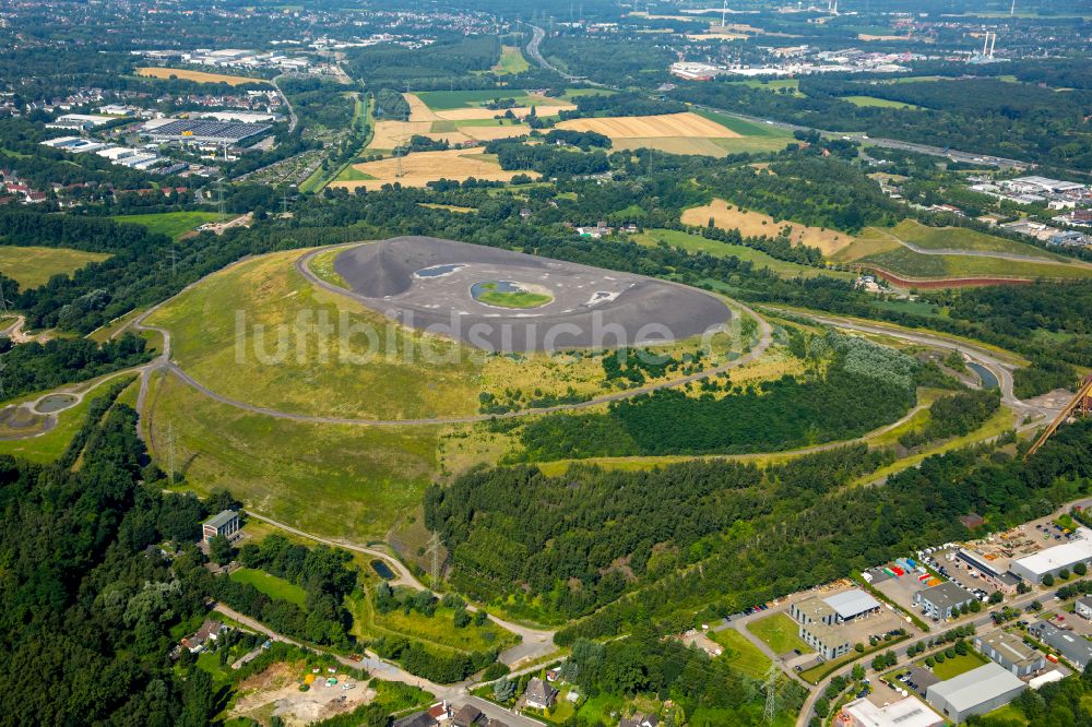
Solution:
[[[746,389],[707,382],[698,396],[660,390],[616,402],[605,414],[543,417],[520,432],[523,457],[545,462],[794,449],[863,434],[914,404],[918,367],[909,356],[833,332],[815,341],[809,356],[823,373]]]

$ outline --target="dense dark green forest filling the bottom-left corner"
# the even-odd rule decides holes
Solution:
[[[205,511],[143,484],[135,420],[115,405],[92,421],[79,469],[0,457],[0,678],[35,684],[0,695],[10,724],[199,727],[218,711],[207,672],[166,658],[205,594],[144,553]]]

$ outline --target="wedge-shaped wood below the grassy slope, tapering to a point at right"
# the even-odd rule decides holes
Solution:
[[[451,551],[461,591],[488,600],[522,584],[546,600],[548,618],[573,617],[704,559],[737,522],[769,514],[771,498],[802,504],[888,461],[857,445],[764,472],[723,461],[640,473],[573,467],[563,477],[499,468],[430,488],[425,516]]]

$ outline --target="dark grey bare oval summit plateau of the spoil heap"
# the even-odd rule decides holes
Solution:
[[[717,298],[682,285],[431,237],[347,248],[334,270],[368,308],[490,351],[665,343],[732,317]],[[508,291],[512,306],[477,300],[483,284]],[[529,306],[525,294],[549,299]]]

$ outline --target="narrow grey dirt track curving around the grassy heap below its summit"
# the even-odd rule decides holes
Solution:
[[[349,245],[360,245],[360,243],[352,242]],[[320,250],[314,250],[305,255],[301,255],[296,261],[296,270],[311,284],[320,288],[323,288],[325,290],[330,290],[331,293],[352,299],[354,297],[354,294],[352,294],[348,290],[345,290],[342,287],[339,287],[331,283],[327,283],[325,281],[318,277],[314,273],[312,273],[310,267],[308,266],[307,263],[311,260],[311,258],[313,258],[319,252],[324,252],[327,250],[329,250],[329,248],[322,248]],[[241,262],[242,261],[239,261],[239,263]],[[194,283],[193,285],[198,285],[199,283]],[[193,285],[187,286],[178,295],[181,295],[189,288],[193,287]],[[174,298],[171,298],[171,300],[174,300]],[[677,386],[684,386],[688,383],[702,381],[704,379],[709,379],[710,377],[715,377],[725,371],[738,368],[745,364],[749,364],[759,358],[760,356],[762,356],[762,354],[765,353],[765,349],[770,347],[770,344],[773,343],[773,329],[770,326],[770,324],[767,323],[764,319],[758,315],[750,308],[747,308],[746,306],[743,306],[741,303],[736,301],[736,306],[739,308],[739,310],[744,311],[747,315],[750,315],[752,319],[755,319],[755,321],[758,322],[760,332],[759,341],[751,348],[749,353],[744,354],[736,360],[729,361],[724,366],[716,367],[715,369],[708,369],[705,371],[692,373],[690,376],[682,377],[680,379],[662,381],[658,383],[640,386],[638,389],[628,389],[626,391],[619,391],[613,394],[605,394],[603,396],[597,396],[586,402],[580,402],[577,404],[559,404],[557,406],[521,409],[519,412],[508,412],[506,414],[474,414],[463,417],[437,417],[437,418],[425,418],[425,419],[353,419],[346,417],[327,417],[327,416],[314,416],[308,414],[296,414],[294,412],[281,412],[280,409],[271,409],[264,406],[254,406],[253,404],[247,404],[246,402],[240,402],[238,400],[229,398],[227,396],[217,394],[216,392],[212,391],[206,385],[204,385],[200,381],[197,381],[190,374],[186,373],[186,371],[183,371],[181,367],[178,366],[177,362],[170,359],[169,331],[161,329],[155,325],[145,325],[144,321],[147,319],[147,317],[154,313],[156,310],[158,310],[166,302],[168,301],[164,301],[158,306],[155,306],[154,308],[150,308],[147,311],[145,311],[138,318],[133,319],[131,324],[138,331],[155,331],[156,333],[163,336],[163,354],[161,354],[157,359],[145,365],[142,368],[144,376],[141,380],[141,391],[136,400],[139,412],[144,410],[144,403],[147,398],[147,385],[149,385],[150,374],[155,371],[162,370],[175,376],[179,381],[181,381],[186,385],[199,391],[200,393],[204,394],[209,398],[212,398],[213,401],[219,402],[221,404],[226,404],[227,406],[232,406],[237,409],[242,409],[244,412],[250,412],[251,414],[259,414],[262,416],[273,417],[275,419],[288,419],[292,421],[301,421],[306,424],[349,425],[359,427],[413,427],[423,425],[472,424],[475,421],[489,421],[492,419],[511,419],[515,417],[525,417],[532,415],[555,414],[559,412],[573,412],[578,409],[586,409],[593,406],[598,406],[601,404],[617,402],[624,398],[631,398],[640,394],[648,394],[654,391],[660,391],[662,389],[675,389]]]

